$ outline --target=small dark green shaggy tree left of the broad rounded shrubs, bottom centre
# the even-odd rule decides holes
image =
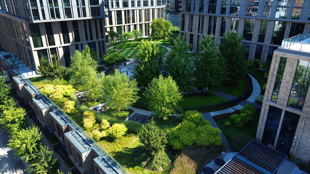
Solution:
[[[167,144],[166,133],[155,124],[151,120],[148,124],[142,125],[138,131],[139,141],[144,144],[147,153],[151,155],[159,151],[164,151]]]

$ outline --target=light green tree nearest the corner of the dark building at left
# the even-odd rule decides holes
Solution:
[[[91,58],[90,49],[86,45],[85,50],[80,52],[75,50],[75,54],[71,57],[71,64],[68,73],[71,75],[70,83],[73,85],[84,85],[83,77],[90,71],[95,71],[97,63]]]

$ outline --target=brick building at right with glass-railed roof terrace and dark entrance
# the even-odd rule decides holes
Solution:
[[[273,53],[256,139],[310,161],[310,32],[281,42]]]

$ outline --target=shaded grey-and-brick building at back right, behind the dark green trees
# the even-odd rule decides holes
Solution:
[[[310,30],[309,0],[187,0],[180,34],[199,51],[202,36],[221,41],[225,32],[243,34],[248,59],[266,62],[283,39]]]

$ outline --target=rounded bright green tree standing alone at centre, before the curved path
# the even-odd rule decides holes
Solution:
[[[145,89],[145,97],[149,100],[149,108],[158,118],[167,119],[170,113],[179,110],[178,102],[182,100],[182,94],[178,85],[168,76],[159,75],[148,84]]]

